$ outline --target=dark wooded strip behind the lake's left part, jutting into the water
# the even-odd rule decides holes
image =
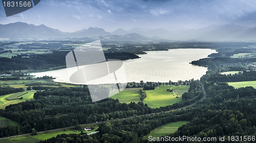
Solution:
[[[48,54],[33,54],[29,58],[16,55],[10,58],[0,58],[0,71],[12,70],[44,70],[51,67],[66,66],[66,55],[69,51],[53,50]],[[106,59],[128,60],[139,58],[132,53],[105,53]]]

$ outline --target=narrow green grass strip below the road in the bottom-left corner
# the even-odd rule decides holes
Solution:
[[[91,130],[90,132],[94,132],[96,129],[98,129],[98,127],[95,127],[94,130]],[[86,133],[90,133],[89,131],[83,131]],[[76,131],[76,130],[72,130],[72,129],[67,129],[67,130],[58,130],[58,131],[50,131],[50,132],[46,132],[46,133],[40,133],[37,135],[26,135],[26,136],[19,136],[19,137],[13,137],[13,138],[6,138],[6,139],[0,139],[0,142],[6,142],[6,143],[35,143],[38,142],[40,140],[45,140],[54,136],[57,136],[58,134],[70,134],[70,133],[76,133],[79,134],[81,133],[81,131]]]

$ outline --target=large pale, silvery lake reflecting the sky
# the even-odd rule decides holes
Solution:
[[[196,61],[202,58],[207,58],[207,55],[217,53],[212,49],[170,49],[168,51],[148,51],[147,54],[139,55],[140,59],[123,61],[123,66],[119,71],[115,72],[117,81],[139,82],[143,81],[159,81],[168,82],[178,80],[200,79],[207,71],[205,67],[199,67],[189,64],[191,61]],[[79,66],[84,68],[86,66]],[[59,69],[46,72],[31,73],[35,76],[53,76],[56,82],[70,81],[70,76],[77,68]],[[97,73],[97,71],[95,71]],[[98,83],[116,83],[113,75],[105,76],[102,79],[96,79],[87,83],[80,84],[98,84]],[[76,83],[77,84],[77,83]]]

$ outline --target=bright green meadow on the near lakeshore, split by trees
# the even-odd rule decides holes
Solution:
[[[155,90],[146,90],[146,98],[143,100],[143,103],[146,103],[148,106],[153,108],[158,108],[161,106],[167,106],[172,105],[174,103],[180,102],[182,100],[181,95],[184,92],[187,92],[189,89],[189,86],[175,86],[173,88],[175,94],[179,95],[179,98],[176,98],[174,96],[173,92],[167,92],[166,89],[172,88],[173,86],[160,86],[159,88],[156,88]],[[140,101],[140,95],[139,90],[141,88],[127,88],[124,89],[122,92],[112,96],[111,98],[119,99],[122,103],[131,103],[133,102],[139,102]]]

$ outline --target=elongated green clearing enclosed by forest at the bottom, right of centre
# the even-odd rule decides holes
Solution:
[[[149,134],[144,136],[144,138],[148,139],[148,136],[160,137],[160,136],[164,136],[166,134],[167,135],[172,134],[172,133],[176,132],[180,126],[185,125],[187,123],[189,123],[189,121],[178,121],[178,122],[174,122],[174,123],[168,123],[166,125],[163,125],[157,129],[151,131]]]

